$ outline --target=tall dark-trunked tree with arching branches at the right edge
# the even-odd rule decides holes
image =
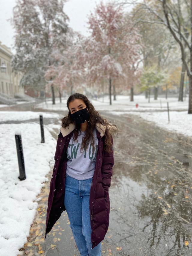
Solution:
[[[188,114],[192,114],[192,1],[145,0],[140,4],[154,17],[149,20],[146,16],[140,21],[166,26],[180,47],[182,64],[189,78]]]

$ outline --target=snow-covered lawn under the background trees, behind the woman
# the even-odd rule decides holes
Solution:
[[[134,96],[134,101],[130,101],[129,96],[117,95],[116,101],[113,101],[112,105],[109,105],[109,97],[104,97],[104,102],[100,98],[98,100],[90,99],[97,111],[107,111],[115,115],[134,114],[139,115],[143,119],[151,122],[155,122],[162,128],[166,128],[170,131],[179,132],[184,135],[192,136],[192,115],[187,114],[188,110],[188,97],[184,98],[184,101],[178,101],[176,97],[159,97],[158,100],[150,98],[150,103],[144,95]],[[66,107],[67,98],[62,99],[62,103],[59,99],[56,99],[56,104],[52,105],[52,101],[47,101],[47,104],[38,104],[38,107],[45,109],[58,109],[68,110]],[[168,123],[167,102],[169,102],[170,110],[170,122]],[[136,103],[138,107],[136,107]]]

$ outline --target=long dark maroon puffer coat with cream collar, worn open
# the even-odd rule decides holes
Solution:
[[[109,187],[111,185],[111,176],[113,170],[113,146],[112,152],[107,153],[104,151],[104,133],[106,130],[105,125],[99,122],[95,124],[98,137],[98,149],[96,156],[95,172],[93,175],[91,190],[90,190],[90,222],[91,222],[91,243],[94,248],[102,240],[104,240],[109,226],[110,214],[110,198]],[[50,232],[55,222],[65,211],[64,206],[64,192],[65,192],[65,177],[67,165],[67,147],[70,138],[73,136],[75,124],[70,123],[69,128],[60,128],[58,134],[56,152],[55,152],[55,165],[53,168],[52,179],[50,181],[50,192],[48,197],[48,207],[46,214],[46,234]],[[113,144],[113,132],[116,132],[114,125],[108,125],[111,133],[111,142]]]

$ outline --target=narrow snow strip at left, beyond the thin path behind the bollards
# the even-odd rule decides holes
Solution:
[[[60,118],[61,115],[57,113],[33,112],[33,111],[0,111],[0,122],[5,121],[24,121],[29,119],[39,118]]]

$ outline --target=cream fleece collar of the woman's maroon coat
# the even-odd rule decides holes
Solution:
[[[60,131],[61,131],[63,137],[66,136],[66,135],[68,135],[68,134],[70,134],[70,132],[75,129],[75,126],[76,126],[76,125],[73,124],[72,122],[69,123],[69,128],[67,128],[67,129],[61,126]],[[102,125],[100,122],[96,122],[96,123],[95,123],[95,128],[100,132],[101,137],[104,136],[104,133],[105,133],[105,131],[106,131],[106,128],[109,129],[109,132],[110,132],[110,134],[112,134],[112,135],[117,132],[117,127],[116,127],[115,125],[113,125],[113,124]]]

